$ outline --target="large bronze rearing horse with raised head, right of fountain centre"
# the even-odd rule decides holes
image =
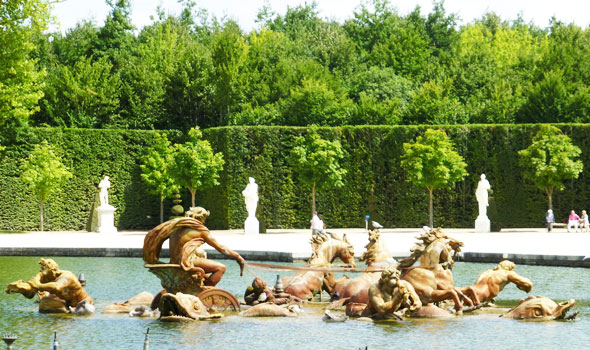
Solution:
[[[453,299],[455,309],[461,310],[463,299],[469,306],[473,306],[471,299],[459,288],[455,288],[453,283],[454,259],[463,243],[448,237],[440,228],[423,233],[417,238],[421,242],[412,247],[409,257],[400,261],[401,279],[414,286],[424,305]]]

